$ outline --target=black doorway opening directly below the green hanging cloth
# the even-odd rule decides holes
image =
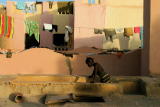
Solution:
[[[33,47],[39,47],[39,43],[36,40],[34,34],[29,36],[28,34],[25,34],[25,49],[33,48]]]

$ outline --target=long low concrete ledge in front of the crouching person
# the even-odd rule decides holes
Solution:
[[[25,96],[44,94],[76,94],[80,96],[112,96],[136,94],[160,96],[160,80],[149,77],[113,77],[113,83],[88,83],[76,76],[6,76],[0,78],[0,97],[19,92]]]

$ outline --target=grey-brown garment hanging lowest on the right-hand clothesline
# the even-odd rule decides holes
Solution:
[[[108,40],[108,37],[113,42],[113,36],[116,35],[115,29],[104,29],[106,40]]]

